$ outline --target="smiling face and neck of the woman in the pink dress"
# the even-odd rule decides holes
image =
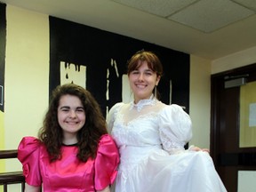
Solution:
[[[58,107],[58,122],[63,131],[65,140],[76,140],[76,133],[85,124],[85,111],[81,100],[74,95],[60,97]]]

